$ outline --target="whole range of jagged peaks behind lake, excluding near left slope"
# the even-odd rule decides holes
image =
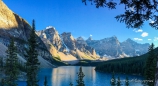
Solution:
[[[70,32],[59,34],[52,26],[36,33],[50,53],[62,61],[95,60],[98,55],[111,58],[139,56],[146,53],[149,47],[148,43],[139,44],[131,39],[119,42],[116,36],[101,40],[93,40],[92,37],[87,40],[82,37],[75,39]]]

